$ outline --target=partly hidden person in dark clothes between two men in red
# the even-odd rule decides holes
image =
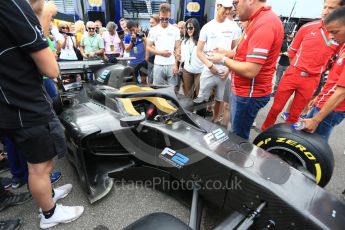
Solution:
[[[288,49],[291,45],[292,39],[293,39],[293,33],[287,33],[286,38],[283,41],[283,45],[280,50],[280,59],[279,59],[277,71],[276,71],[276,81],[274,83],[274,92],[277,90],[280,79],[282,78],[285,70],[290,65]]]

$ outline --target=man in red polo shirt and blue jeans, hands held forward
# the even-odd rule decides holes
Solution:
[[[261,108],[270,100],[272,79],[284,38],[278,16],[265,0],[233,2],[240,21],[248,21],[234,60],[214,54],[210,60],[233,71],[232,131],[249,139],[250,128]]]

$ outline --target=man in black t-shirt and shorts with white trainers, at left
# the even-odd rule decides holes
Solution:
[[[30,2],[42,4],[46,12],[44,0]],[[59,190],[52,198],[49,177],[53,157],[66,152],[64,131],[42,79],[58,77],[57,62],[26,0],[0,1],[0,34],[0,132],[28,161],[30,192],[43,212],[40,227],[73,221],[83,207],[56,205],[67,194]]]

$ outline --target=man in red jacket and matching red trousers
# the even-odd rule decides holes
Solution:
[[[301,112],[317,89],[321,74],[326,70],[330,58],[338,52],[339,48],[336,42],[329,39],[323,20],[344,3],[345,0],[325,0],[322,19],[305,24],[297,32],[288,53],[290,67],[279,83],[274,103],[261,127],[262,130],[274,125],[277,116],[293,93],[295,93],[295,97],[286,122],[298,121]]]

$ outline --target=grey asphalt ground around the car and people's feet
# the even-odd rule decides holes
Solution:
[[[272,101],[271,99],[270,103],[260,111],[256,119],[257,127],[261,126]],[[283,120],[280,119],[279,121],[282,122]],[[251,140],[258,133],[257,129],[252,129]],[[341,193],[345,189],[344,136],[345,122],[335,128],[330,138],[330,146],[335,157],[335,169],[331,181],[325,188],[343,202],[344,195]],[[121,229],[140,217],[153,212],[167,212],[188,223],[189,209],[187,207],[173,197],[150,188],[117,186],[105,198],[91,205],[80,186],[74,168],[67,159],[55,160],[55,163],[55,169],[60,170],[63,174],[63,177],[55,186],[65,183],[73,184],[72,192],[59,203],[64,205],[83,205],[85,212],[78,220],[69,224],[61,224],[51,229],[115,230]],[[2,173],[0,176],[9,176],[9,172]],[[25,191],[25,187],[23,186],[12,191]],[[208,207],[204,214],[208,217],[203,220],[203,229],[211,229],[219,219],[217,210],[213,207]],[[20,206],[10,207],[0,213],[0,219],[9,218],[21,218],[23,221],[21,229],[39,229],[38,207],[32,200]]]

